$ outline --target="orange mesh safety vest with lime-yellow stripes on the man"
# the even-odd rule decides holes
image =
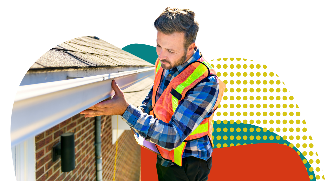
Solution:
[[[161,76],[163,74],[163,68],[161,67],[161,62],[159,61],[159,58],[157,58],[156,60],[154,71],[155,71],[155,79],[154,79],[153,92],[152,92],[153,110],[150,111],[150,114],[162,120],[165,123],[169,123],[177,106],[180,104],[181,100],[184,99],[186,92],[188,92],[193,87],[197,86],[199,82],[201,82],[203,79],[207,78],[208,76],[216,75],[216,72],[213,69],[213,67],[202,56],[200,56],[200,58],[197,61],[190,63],[180,74],[174,77],[170,81],[167,88],[163,91],[160,98],[157,101],[155,101],[156,93],[161,81]],[[219,80],[218,86],[219,86],[219,93],[218,93],[217,101],[214,106],[214,110],[218,107],[226,87],[226,85],[221,80]],[[214,117],[214,113],[209,118],[205,118],[196,127],[196,129],[193,130],[188,137],[186,137],[186,139],[182,142],[182,144],[176,147],[174,150],[169,151],[156,144],[156,147],[160,155],[163,158],[171,160],[172,162],[181,166],[182,155],[186,146],[185,141],[196,140],[203,136],[208,135],[210,142],[212,144],[211,146],[213,146],[213,141],[212,141],[213,117]]]

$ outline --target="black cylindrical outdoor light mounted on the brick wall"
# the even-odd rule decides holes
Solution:
[[[61,142],[52,147],[52,162],[61,156],[61,172],[75,169],[75,137],[74,133],[60,135]]]

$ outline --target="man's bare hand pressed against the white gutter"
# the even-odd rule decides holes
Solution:
[[[129,106],[129,103],[125,98],[124,92],[120,90],[115,80],[112,80],[111,87],[115,91],[115,95],[112,97],[112,99],[99,102],[89,109],[82,111],[80,114],[85,114],[85,118],[101,115],[122,116]]]

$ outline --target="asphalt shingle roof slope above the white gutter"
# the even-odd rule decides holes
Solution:
[[[117,66],[154,66],[106,41],[79,37],[55,46],[30,69],[63,69]]]

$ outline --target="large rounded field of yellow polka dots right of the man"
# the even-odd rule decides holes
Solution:
[[[236,61],[235,61],[236,60]],[[316,177],[309,174],[311,180],[320,179],[320,160],[310,131],[305,126],[306,121],[301,116],[301,109],[287,89],[281,78],[264,64],[255,64],[255,61],[245,58],[218,58],[212,60],[211,66],[215,68],[217,76],[226,84],[223,100],[214,120],[238,119],[237,122],[250,123],[263,130],[269,130],[287,140],[290,147],[301,150],[307,159],[303,163],[310,163],[312,167],[306,168],[314,172]],[[249,120],[249,121],[248,121]],[[225,123],[225,121],[224,121]],[[260,129],[260,128],[259,128]],[[218,131],[218,130],[215,130]],[[224,130],[225,131],[225,130]],[[226,130],[227,131],[227,130]],[[225,132],[226,132],[225,131]],[[235,130],[239,132],[241,130]],[[242,130],[245,131],[245,130]],[[255,131],[255,130],[246,130]],[[214,139],[237,139],[237,140],[272,140],[273,136],[260,136],[245,138],[243,136],[230,136],[230,138]],[[286,143],[285,143],[286,144]],[[240,145],[240,144],[236,144]],[[216,147],[234,146],[215,145]],[[301,154],[298,153],[299,155]],[[312,171],[311,171],[312,170]],[[309,173],[309,172],[308,172]],[[321,177],[324,179],[324,176]]]

